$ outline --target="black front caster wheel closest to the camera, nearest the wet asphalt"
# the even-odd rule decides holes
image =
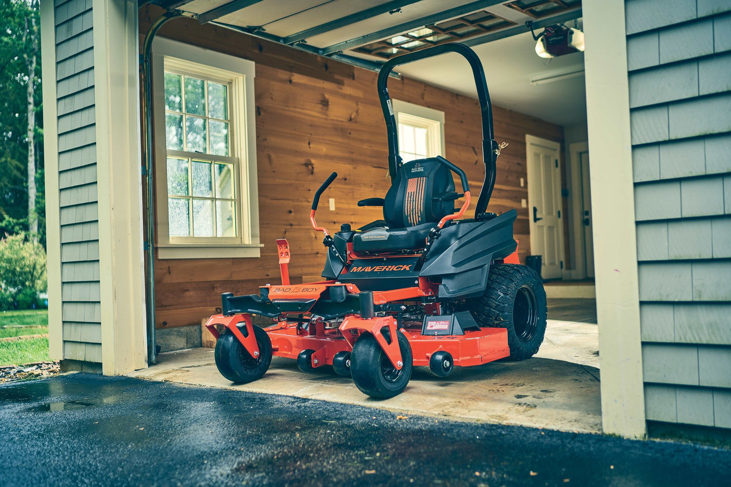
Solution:
[[[412,350],[404,333],[396,332],[404,366],[396,369],[370,333],[360,336],[353,346],[350,371],[361,392],[376,399],[398,396],[411,380]]]

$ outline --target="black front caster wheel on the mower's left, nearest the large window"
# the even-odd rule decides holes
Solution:
[[[219,366],[219,371],[231,382],[239,384],[254,382],[254,380],[261,379],[269,369],[272,361],[272,342],[269,335],[262,328],[254,326],[254,336],[257,337],[257,346],[259,347],[258,357],[249,355],[249,352],[233,336],[233,333],[227,332],[221,337],[223,339],[221,348],[224,350],[221,350],[220,357],[221,359],[227,358],[225,361],[228,363],[229,370],[227,371],[225,367]],[[216,360],[216,365],[218,365],[218,360]],[[229,371],[230,376],[227,375]]]

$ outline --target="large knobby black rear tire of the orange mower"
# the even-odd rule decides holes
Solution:
[[[526,265],[493,265],[485,294],[466,300],[464,309],[480,326],[507,329],[510,360],[531,358],[543,342],[546,293],[541,278]]]

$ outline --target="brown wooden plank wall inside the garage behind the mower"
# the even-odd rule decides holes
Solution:
[[[143,10],[142,35],[159,12],[156,7]],[[382,218],[379,208],[359,208],[356,202],[385,195],[389,180],[376,73],[189,19],[170,21],[159,35],[257,63],[259,210],[265,244],[259,259],[157,260],[156,326],[162,328],[200,323],[220,306],[221,292],[257,292],[261,284],[279,282],[276,238],[288,238],[292,245],[292,282],[319,276],[325,249],[322,234],[311,229],[308,219],[314,190],[331,172],[338,173],[325,195],[335,198],[336,211],[325,204],[317,214],[318,223],[333,231],[344,222],[357,227]],[[389,89],[393,99],[444,111],[444,156],[463,167],[477,201],[485,175],[477,100],[409,79],[392,79]],[[494,118],[496,140],[510,145],[499,158],[488,210],[518,208],[515,237],[524,259],[530,248],[528,210],[520,208],[520,200],[528,198],[525,136],[563,143],[563,128],[501,107],[494,107]],[[520,178],[526,186],[520,187]]]

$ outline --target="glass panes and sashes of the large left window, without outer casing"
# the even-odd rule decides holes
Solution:
[[[230,83],[165,72],[170,237],[235,237]]]

